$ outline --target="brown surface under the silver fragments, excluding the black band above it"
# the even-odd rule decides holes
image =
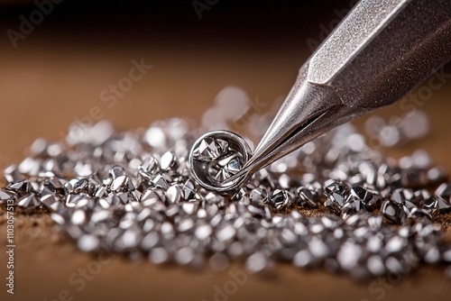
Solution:
[[[93,106],[99,106],[104,118],[113,121],[116,128],[128,129],[170,116],[198,119],[216,93],[230,84],[269,104],[289,91],[297,69],[308,56],[295,49],[234,53],[208,47],[117,50],[104,46],[87,50],[75,43],[55,46],[51,39],[30,39],[35,39],[34,43],[30,41],[33,47],[11,50],[5,45],[0,49],[2,167],[20,161],[36,137],[59,139],[60,131],[66,131],[74,118],[86,116]],[[107,108],[100,101],[100,92],[128,74],[132,59],[141,58],[153,65],[152,70],[117,105]],[[447,81],[422,106],[432,117],[428,137],[386,152],[399,158],[419,148],[428,150],[434,162],[451,170],[451,80]],[[404,113],[400,105],[381,112],[387,117]],[[73,300],[213,300],[215,287],[224,287],[231,280],[229,271],[243,269],[234,264],[224,272],[195,272],[116,256],[78,291],[78,285],[69,283],[70,276],[86,269],[97,257],[77,251],[48,216],[17,216],[15,294],[9,296],[4,284],[4,219],[0,216],[1,300],[50,301],[58,299],[63,289],[69,290]],[[449,217],[445,223],[450,223]],[[449,236],[449,229],[447,233]],[[449,300],[451,296],[450,280],[444,278],[441,266],[421,268],[400,279],[364,283],[289,265],[281,265],[276,274],[276,278],[249,275],[228,300]]]

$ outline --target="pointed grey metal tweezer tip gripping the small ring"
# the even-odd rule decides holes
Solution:
[[[225,183],[393,104],[449,59],[450,0],[360,1],[300,68],[252,157]]]

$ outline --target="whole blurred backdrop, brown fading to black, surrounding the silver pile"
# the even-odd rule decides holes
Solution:
[[[353,2],[62,1],[46,6],[48,14],[42,14],[40,21],[36,3],[1,1],[0,166],[20,161],[37,137],[60,139],[69,124],[80,119],[101,115],[117,129],[145,127],[170,116],[199,119],[227,85],[242,87],[252,98],[271,104],[288,93],[312,47]],[[25,31],[21,31],[23,19],[31,17],[38,18],[35,24],[22,25]],[[110,108],[100,95],[128,76],[133,59],[143,59],[152,69]],[[444,73],[446,83],[421,106],[431,117],[428,137],[386,153],[399,158],[412,150],[428,150],[435,162],[451,170],[451,132],[446,130],[451,68],[447,66]],[[91,114],[93,107],[99,113]],[[393,105],[378,114],[404,113],[400,105]],[[363,121],[356,124],[362,126]],[[4,245],[5,223],[0,231]],[[235,264],[224,272],[192,272],[116,257],[78,291],[69,283],[70,276],[97,258],[75,250],[48,217],[18,217],[16,245],[15,294],[6,295],[2,282],[2,300],[70,300],[60,295],[64,289],[73,300],[213,300],[215,287],[231,279],[228,272],[243,269]],[[0,278],[5,281],[4,246],[0,250]],[[276,272],[278,277],[271,279],[250,275],[228,300],[449,300],[451,296],[443,267],[364,283],[288,265]]]

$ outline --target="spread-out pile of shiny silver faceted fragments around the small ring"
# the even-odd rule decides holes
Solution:
[[[198,132],[181,119],[128,132],[74,125],[67,141],[37,140],[5,169],[0,203],[49,212],[82,251],[157,264],[225,269],[244,260],[259,272],[290,261],[365,278],[451,263],[435,222],[449,212],[451,186],[424,152],[386,160],[345,125],[221,195],[190,176]],[[205,141],[198,156],[211,162],[227,151],[226,141]]]

